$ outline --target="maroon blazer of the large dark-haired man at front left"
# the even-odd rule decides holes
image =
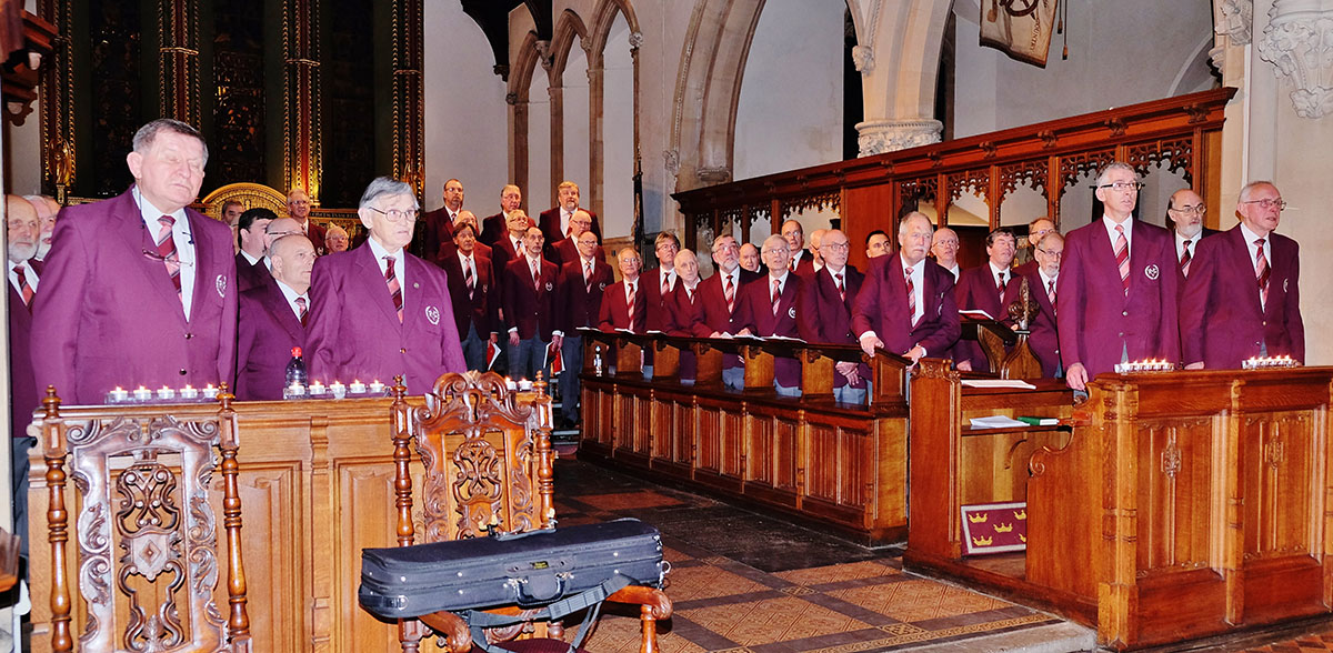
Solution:
[[[32,313],[37,392],[104,404],[115,386],[203,388],[236,374],[236,257],[225,224],[185,209],[195,240],[189,321],[131,191],[65,207]]]

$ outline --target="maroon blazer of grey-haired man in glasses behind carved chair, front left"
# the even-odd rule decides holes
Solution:
[[[409,253],[404,267],[399,321],[369,243],[315,261],[305,321],[305,364],[312,380],[392,385],[395,374],[403,374],[408,393],[423,394],[435,388],[440,374],[468,369],[453,321],[449,279]]]

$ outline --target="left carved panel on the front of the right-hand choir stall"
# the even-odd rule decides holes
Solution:
[[[1140,576],[1214,566],[1214,428],[1208,417],[1144,420],[1138,428]],[[1220,489],[1220,488],[1218,488]]]

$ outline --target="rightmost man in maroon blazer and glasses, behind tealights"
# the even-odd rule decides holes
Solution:
[[[1204,239],[1181,297],[1185,366],[1238,369],[1254,356],[1305,360],[1301,256],[1277,233],[1286,203],[1269,181],[1241,189],[1241,223]]]

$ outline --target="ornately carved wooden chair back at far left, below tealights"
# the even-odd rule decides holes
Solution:
[[[55,388],[48,388],[41,444],[49,489],[52,650],[73,650],[76,610],[84,652],[251,650],[237,436],[225,386],[220,398],[221,409],[208,420],[179,420],[145,406],[140,414],[67,421]],[[67,461],[75,486],[73,552]],[[219,518],[209,501],[219,464],[225,557],[217,554]],[[213,598],[221,565],[227,565],[225,617]],[[77,605],[71,569],[77,573]]]

